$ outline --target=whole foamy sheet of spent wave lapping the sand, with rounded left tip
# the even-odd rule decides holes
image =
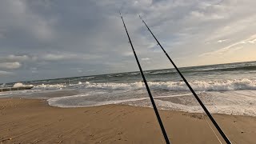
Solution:
[[[86,97],[88,97],[88,99],[86,99]],[[171,100],[166,100],[166,98],[174,97],[181,97],[179,99],[188,104],[182,104],[177,102],[171,102]],[[50,98],[48,99],[48,102],[50,106],[58,107],[102,106],[108,104],[125,104],[130,106],[151,107],[150,99],[148,97],[127,99],[106,98],[107,100],[105,99],[102,101],[98,101],[98,97],[95,98],[97,98],[97,100],[93,100],[92,97],[90,97],[90,94],[79,94],[62,98]],[[165,98],[165,100],[162,100],[161,98]],[[191,102],[193,101],[193,98],[194,97],[191,96],[191,94],[175,94],[154,97],[154,101],[158,108],[162,110],[179,110],[189,113],[202,113],[202,107],[199,106],[198,102],[196,102],[195,99],[194,102]],[[201,98],[207,109],[210,111],[210,113],[213,114],[256,116],[256,90],[203,92]],[[66,104],[66,102],[69,103]]]

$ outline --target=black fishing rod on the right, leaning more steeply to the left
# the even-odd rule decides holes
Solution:
[[[139,15],[139,18],[142,19],[142,17]],[[146,25],[146,22],[142,19],[142,22],[145,24],[146,28],[150,31],[150,33],[152,34],[152,36],[154,37],[154,39],[158,42],[158,39],[155,38],[154,34],[152,33],[152,31],[150,30],[149,26]],[[178,74],[182,77],[183,81],[186,83],[186,86],[189,87],[190,91],[192,92],[192,94],[194,94],[194,98],[196,98],[200,104],[200,106],[202,106],[202,109],[205,110],[207,116],[210,118],[210,121],[213,122],[214,126],[216,127],[216,129],[218,130],[219,134],[222,135],[222,138],[226,141],[226,143],[231,144],[229,138],[226,137],[226,134],[224,134],[224,132],[222,131],[221,127],[218,126],[218,123],[214,120],[214,118],[212,117],[212,115],[210,114],[210,112],[207,110],[206,106],[202,103],[201,99],[198,97],[198,94],[196,94],[194,92],[194,90],[192,89],[192,87],[190,86],[189,82],[186,81],[186,78],[183,76],[183,74],[178,70],[178,67],[174,64],[173,60],[170,58],[169,54],[166,53],[166,50],[164,50],[164,48],[162,47],[162,45],[160,44],[160,42],[158,42],[158,45],[162,48],[162,51],[166,54],[166,57],[169,58],[170,62],[173,64],[174,68],[178,71]]]

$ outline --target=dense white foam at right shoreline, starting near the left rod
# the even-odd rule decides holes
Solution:
[[[211,97],[205,99],[207,109],[213,114],[232,114],[232,115],[249,115],[256,116],[256,91],[255,90],[235,90],[220,92],[207,92]],[[158,108],[163,110],[180,110],[189,113],[202,113],[202,107],[197,105],[182,105],[179,103],[162,101],[155,99]],[[128,103],[129,104],[129,103]],[[130,103],[131,106],[143,106],[140,104]],[[144,103],[144,106],[149,106]]]

